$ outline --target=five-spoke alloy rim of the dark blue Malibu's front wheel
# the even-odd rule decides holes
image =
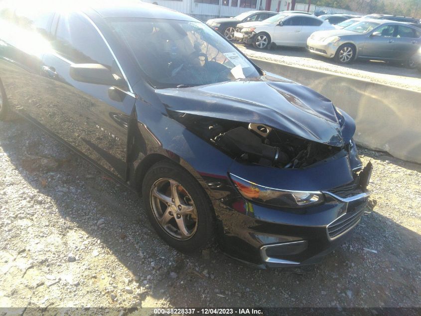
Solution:
[[[161,228],[171,237],[186,240],[197,229],[197,210],[189,193],[177,181],[161,178],[150,189],[150,206]]]

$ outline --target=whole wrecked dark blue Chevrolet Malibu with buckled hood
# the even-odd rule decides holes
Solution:
[[[372,169],[349,115],[192,16],[56,3],[0,12],[1,119],[16,111],[140,192],[180,251],[215,236],[242,261],[296,267],[349,236]]]

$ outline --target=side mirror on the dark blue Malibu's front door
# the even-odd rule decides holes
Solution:
[[[70,76],[76,81],[86,83],[111,86],[119,83],[107,67],[97,63],[73,64],[70,66]]]

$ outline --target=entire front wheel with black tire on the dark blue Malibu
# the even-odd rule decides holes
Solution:
[[[143,179],[142,196],[151,225],[168,245],[183,253],[210,245],[214,235],[212,204],[183,168],[170,161],[150,167]]]

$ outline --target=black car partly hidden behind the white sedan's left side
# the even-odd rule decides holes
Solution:
[[[247,11],[237,15],[236,17],[212,18],[207,20],[206,24],[220,32],[226,39],[233,40],[235,27],[238,23],[263,21],[268,17],[277,14],[279,13],[272,11]]]

